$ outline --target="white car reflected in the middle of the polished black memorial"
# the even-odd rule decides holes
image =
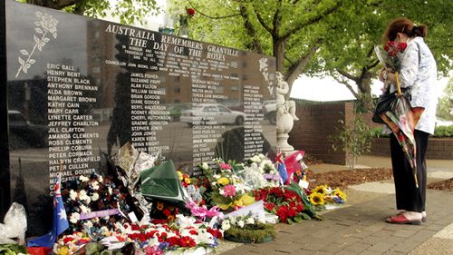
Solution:
[[[186,110],[181,113],[179,121],[188,123],[188,126],[194,124],[237,124],[242,125],[246,113],[233,111],[222,104],[211,103],[204,104],[192,110]]]

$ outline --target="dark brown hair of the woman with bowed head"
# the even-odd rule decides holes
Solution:
[[[395,41],[398,33],[406,34],[410,38],[415,36],[426,37],[428,27],[426,25],[414,25],[409,18],[397,18],[390,22],[384,34],[382,34],[382,43]]]

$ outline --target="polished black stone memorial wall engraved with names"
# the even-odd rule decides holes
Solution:
[[[275,99],[274,58],[2,5],[2,211],[23,203],[29,233],[47,229],[59,172],[63,181],[101,172],[126,142],[193,174],[200,162],[275,146],[275,125],[261,112]]]

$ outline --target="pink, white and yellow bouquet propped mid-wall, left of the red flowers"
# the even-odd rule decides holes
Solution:
[[[234,166],[222,160],[214,160],[214,167],[207,162],[199,165],[210,183],[207,201],[211,206],[218,206],[225,211],[237,210],[255,202],[249,195],[251,188],[236,174]],[[238,167],[242,169],[242,167]]]

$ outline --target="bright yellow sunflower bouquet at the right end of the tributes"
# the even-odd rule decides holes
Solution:
[[[309,192],[308,198],[317,210],[329,209],[329,205],[342,205],[346,202],[346,193],[338,188],[333,190],[326,185],[319,185]]]

